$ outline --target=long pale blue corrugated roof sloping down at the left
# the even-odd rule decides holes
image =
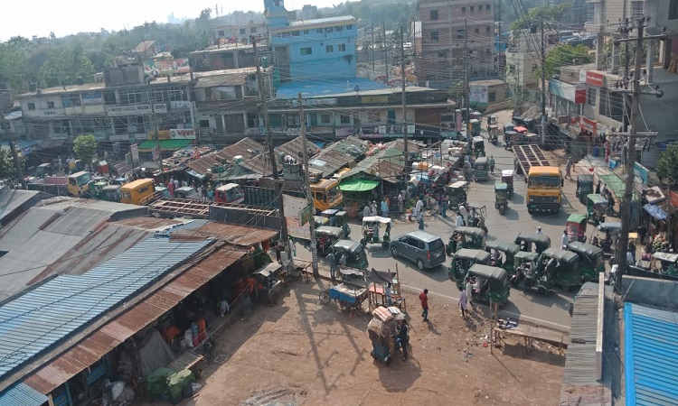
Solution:
[[[89,272],[61,275],[0,308],[0,380],[210,244],[168,236],[149,237]]]

